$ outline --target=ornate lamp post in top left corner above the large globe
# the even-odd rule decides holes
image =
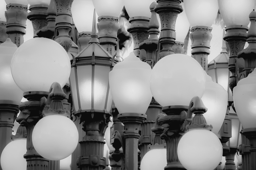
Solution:
[[[27,20],[27,0],[6,0],[6,33],[14,44],[18,47],[24,42],[24,34],[26,33]]]

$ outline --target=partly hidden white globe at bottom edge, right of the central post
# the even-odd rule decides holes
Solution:
[[[164,170],[166,154],[166,148],[149,150],[141,160],[141,170]]]

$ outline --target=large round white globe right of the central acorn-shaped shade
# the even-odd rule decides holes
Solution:
[[[150,89],[162,106],[189,106],[190,100],[202,97],[205,75],[201,65],[185,54],[172,54],[159,60],[152,69]]]

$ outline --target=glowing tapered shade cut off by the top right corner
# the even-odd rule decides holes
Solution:
[[[218,4],[226,26],[247,26],[249,14],[255,8],[255,0],[218,0]]]

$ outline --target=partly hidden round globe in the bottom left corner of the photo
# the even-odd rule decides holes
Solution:
[[[27,170],[27,161],[23,157],[27,152],[27,139],[16,139],[4,148],[0,163],[2,170]]]

